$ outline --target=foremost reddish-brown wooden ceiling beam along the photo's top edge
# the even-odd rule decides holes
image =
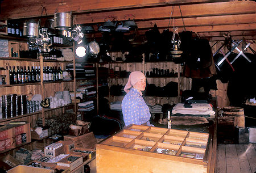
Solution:
[[[224,0],[225,1],[225,0]],[[232,1],[232,0],[226,0]],[[81,12],[98,12],[98,11],[113,11],[122,9],[135,9],[143,7],[156,6],[173,6],[173,5],[187,5],[193,3],[214,3],[223,1],[210,0],[98,0],[98,1],[83,1],[83,0],[63,0],[63,1],[38,1],[38,0],[12,0],[3,1],[1,3],[1,19],[20,19],[20,18],[35,18],[41,16],[42,7],[47,9],[48,15],[53,15],[57,12],[72,11],[76,14]],[[45,14],[44,14],[45,15]]]

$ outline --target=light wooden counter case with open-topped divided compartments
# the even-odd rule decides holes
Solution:
[[[143,125],[129,125],[96,145],[98,173],[205,173],[211,158],[208,133]]]

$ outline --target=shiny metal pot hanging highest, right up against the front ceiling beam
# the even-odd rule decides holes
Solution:
[[[54,27],[56,29],[71,29],[72,16],[71,12],[59,12],[54,14]]]

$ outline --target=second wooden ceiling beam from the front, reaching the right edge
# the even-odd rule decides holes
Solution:
[[[234,14],[255,14],[256,3],[251,1],[233,1],[180,6],[183,18],[200,16],[222,16]],[[77,23],[101,23],[113,16],[115,20],[125,20],[126,15],[134,15],[135,21],[170,19],[172,6],[130,9],[120,11],[97,12],[76,15]],[[131,16],[131,19],[133,16]],[[174,7],[172,18],[181,18],[179,7]]]

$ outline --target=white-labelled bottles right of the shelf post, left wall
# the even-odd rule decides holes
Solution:
[[[44,67],[43,74],[44,81],[63,81],[63,71],[61,70],[61,67],[46,66]]]

